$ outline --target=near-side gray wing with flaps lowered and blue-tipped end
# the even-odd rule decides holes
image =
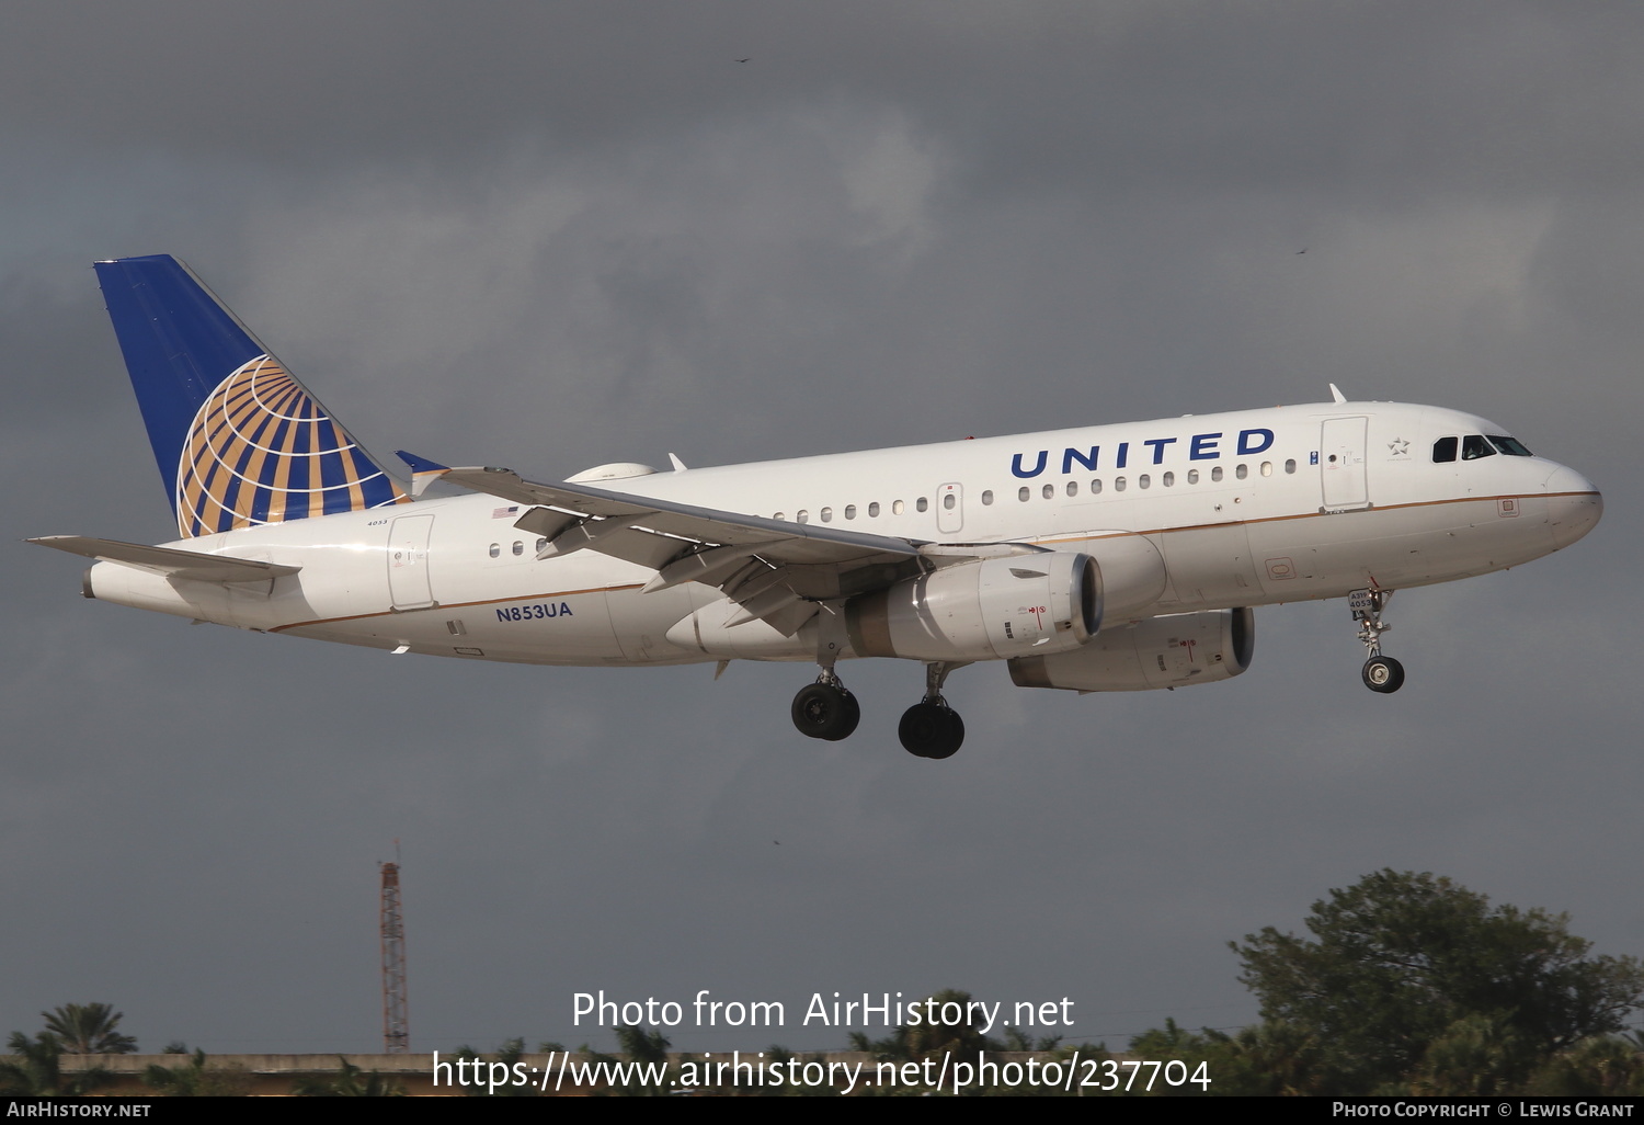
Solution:
[[[539,559],[598,551],[656,571],[644,592],[704,582],[740,612],[792,637],[819,602],[883,589],[922,571],[1021,544],[952,546],[697,508],[582,484],[533,484],[508,469],[449,469],[444,479],[533,505],[515,523],[547,539]]]

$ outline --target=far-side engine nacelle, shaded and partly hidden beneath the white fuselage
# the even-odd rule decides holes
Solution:
[[[1018,688],[1148,691],[1231,679],[1249,668],[1256,615],[1248,609],[1149,617],[1070,653],[1009,663]]]

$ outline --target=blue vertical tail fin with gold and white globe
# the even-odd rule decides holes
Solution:
[[[97,281],[182,538],[409,500],[181,262]]]

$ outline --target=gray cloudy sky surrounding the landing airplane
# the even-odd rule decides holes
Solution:
[[[1613,3],[23,3],[0,38],[0,1031],[610,1048],[572,993],[1256,1007],[1228,939],[1383,868],[1644,954],[1644,12]],[[748,62],[733,59],[748,58]],[[1305,255],[1297,250],[1307,248]],[[1077,697],[845,668],[477,666],[85,602],[21,543],[169,513],[89,263],[186,258],[380,452],[561,477],[1350,395],[1473,410],[1603,525]],[[776,840],[781,840],[776,844]],[[878,1033],[878,1030],[875,1030]]]

